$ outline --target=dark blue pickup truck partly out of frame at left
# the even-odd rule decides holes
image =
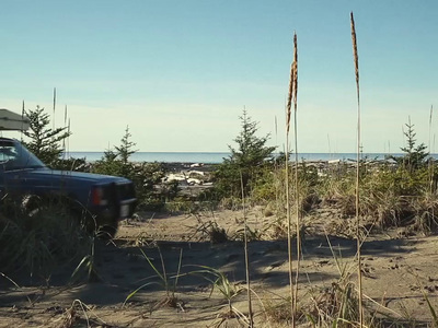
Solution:
[[[18,140],[0,138],[0,199],[7,198],[20,199],[28,211],[44,201],[62,200],[73,213],[91,219],[93,229],[112,236],[136,207],[129,179],[51,169]]]

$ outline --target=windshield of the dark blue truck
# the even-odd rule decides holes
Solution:
[[[4,171],[45,167],[33,153],[14,140],[0,140],[0,166]]]

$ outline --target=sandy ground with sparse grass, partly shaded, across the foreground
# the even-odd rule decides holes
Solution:
[[[247,212],[253,232],[269,232],[275,222],[264,210]],[[341,283],[342,270],[353,272],[351,280],[356,276],[356,242],[339,233],[339,226],[347,226],[345,219],[336,210],[320,208],[306,216],[304,224],[310,223],[302,243],[298,302],[309,312]],[[229,241],[212,244],[206,233],[212,224],[223,229]],[[232,305],[247,314],[242,229],[242,210],[140,213],[122,223],[113,243],[96,242],[96,282],[71,283],[72,265],[55,270],[46,285],[38,277],[10,276],[16,285],[0,279],[0,327],[243,327],[244,320],[224,315],[227,300],[217,289],[211,292],[209,276],[194,274],[204,267],[227,274],[237,291]],[[408,235],[403,229],[368,236],[364,292],[376,316],[389,315],[415,327],[433,320],[424,293],[438,306],[437,243],[437,236]],[[250,243],[249,256],[255,326],[286,326],[272,317],[289,291],[286,241],[265,233]],[[176,286],[165,288],[151,263],[162,274],[164,266],[170,285],[180,272]],[[166,289],[171,295],[174,290],[172,304]]]

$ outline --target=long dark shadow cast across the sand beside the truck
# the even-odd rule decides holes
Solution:
[[[306,236],[302,242],[302,253],[306,259],[312,259],[315,263],[327,265],[334,262],[333,254],[344,260],[353,260],[356,255],[356,241],[328,237],[331,246],[325,236]],[[295,241],[292,243],[295,251]],[[158,247],[160,251],[158,250]],[[408,246],[408,248],[406,247]],[[182,249],[182,268],[177,283],[177,291],[196,292],[208,290],[211,284],[199,274],[193,274],[200,266],[211,267],[227,273],[231,282],[244,283],[244,253],[243,243],[227,242],[223,244],[211,244],[209,242],[164,242],[154,241],[150,245],[141,245],[141,250],[147,255],[150,262],[162,273],[162,262],[170,281],[176,276]],[[365,242],[362,246],[364,256],[393,257],[403,256],[406,251],[415,249],[413,241],[388,239]],[[139,296],[146,296],[149,291],[163,291],[160,285],[162,281],[147,261],[138,246],[119,243],[96,243],[95,270],[100,277],[97,282],[87,282],[85,276],[82,280],[71,284],[70,276],[76,265],[58,268],[50,277],[50,288],[66,288],[69,298],[81,300],[87,304],[96,305],[120,305],[126,296],[140,285],[154,281],[157,284],[148,285],[139,292]],[[161,253],[161,255],[160,255]],[[251,279],[254,282],[263,282],[266,288],[281,288],[288,284],[287,266],[287,242],[286,241],[255,241],[249,244]],[[162,256],[162,259],[161,259]],[[321,272],[322,270],[308,269],[306,276],[300,276],[300,283],[308,281],[331,283],[338,279],[336,274]],[[192,273],[191,273],[192,272]],[[21,286],[42,285],[37,279],[30,280],[23,274],[11,273]],[[211,277],[210,277],[211,278]],[[16,302],[27,302],[26,295],[16,293],[15,288],[7,281],[0,281],[0,307],[13,306]],[[49,295],[49,293],[47,293]],[[45,297],[45,295],[42,295]],[[49,296],[47,296],[49,297]]]

